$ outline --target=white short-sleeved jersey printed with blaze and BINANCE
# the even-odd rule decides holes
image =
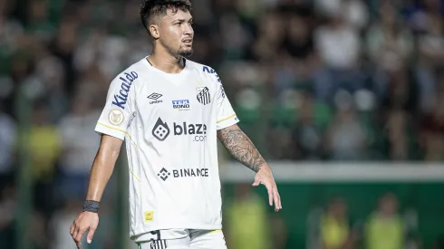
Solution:
[[[237,122],[217,73],[196,62],[171,74],[143,58],[111,82],[95,130],[126,140],[132,239],[221,229],[217,129]]]

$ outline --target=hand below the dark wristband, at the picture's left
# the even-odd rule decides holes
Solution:
[[[70,227],[70,234],[74,240],[77,248],[82,246],[82,236],[88,231],[86,241],[91,244],[92,236],[94,235],[97,226],[99,225],[99,215],[92,212],[82,212],[75,218]]]

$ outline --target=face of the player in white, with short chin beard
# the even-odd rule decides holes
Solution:
[[[169,50],[169,53],[176,56],[191,56],[194,36],[192,21],[191,14],[180,9],[177,12],[169,9],[162,17],[159,24],[159,42]]]

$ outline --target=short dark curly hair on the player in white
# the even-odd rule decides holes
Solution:
[[[142,0],[140,4],[140,20],[145,29],[148,29],[148,23],[152,16],[165,15],[167,10],[172,8],[174,11],[178,9],[184,12],[191,12],[191,2],[189,0]]]

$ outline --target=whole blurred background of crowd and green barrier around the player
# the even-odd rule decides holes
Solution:
[[[229,249],[444,248],[441,0],[193,0],[195,53],[274,169],[219,149]],[[114,76],[150,54],[139,0],[0,1],[0,248],[75,248]],[[121,154],[84,248],[128,239]]]

